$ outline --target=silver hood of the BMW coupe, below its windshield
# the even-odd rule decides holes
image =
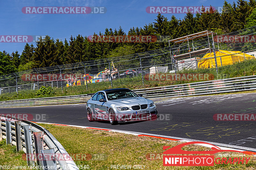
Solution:
[[[109,104],[115,104],[116,107],[131,107],[135,105],[141,104],[150,104],[147,99],[143,97],[131,97],[131,98],[124,98],[124,99],[117,99],[117,100],[110,100],[108,101]]]

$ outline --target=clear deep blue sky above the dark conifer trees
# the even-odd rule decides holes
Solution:
[[[49,35],[53,39],[70,35],[82,36],[105,32],[106,28],[119,26],[128,33],[131,27],[143,27],[152,23],[157,14],[146,12],[148,6],[223,6],[224,1],[170,1],[170,0],[0,0],[0,35]],[[228,3],[233,1],[228,0]],[[105,7],[105,14],[24,14],[23,7]],[[185,14],[163,14],[168,19],[172,15],[183,18]],[[18,51],[20,54],[26,43],[0,42],[0,51],[8,53]],[[31,43],[29,43],[31,44]],[[35,42],[33,43],[35,46]]]

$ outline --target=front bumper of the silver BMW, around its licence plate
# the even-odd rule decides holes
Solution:
[[[129,108],[130,110],[119,111],[116,108],[113,109],[118,122],[154,120],[154,118],[157,116],[156,106],[141,110],[132,110],[132,108]],[[146,110],[146,113],[136,114],[136,111],[143,110]]]

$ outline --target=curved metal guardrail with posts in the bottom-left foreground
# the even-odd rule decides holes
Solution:
[[[78,170],[72,159],[56,159],[56,154],[68,158],[70,155],[47,129],[37,124],[0,114],[0,140],[2,138],[6,139],[7,144],[15,145],[17,151],[26,153],[29,166],[40,166],[41,170],[45,166],[52,166],[54,170]],[[50,158],[42,159],[45,155]]]

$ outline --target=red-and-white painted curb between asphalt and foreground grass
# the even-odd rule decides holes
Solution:
[[[44,123],[44,122],[33,122],[33,123],[54,124],[54,123]],[[192,142],[192,141],[206,142],[206,143],[209,143],[209,144],[212,144],[212,145],[217,145],[222,150],[228,150],[228,149],[232,148],[232,150],[244,152],[245,154],[253,154],[254,156],[256,156],[256,149],[248,148],[248,147],[241,147],[241,146],[236,146],[236,145],[227,145],[227,144],[208,142],[208,141],[203,141],[203,140],[194,140],[194,139],[187,139],[187,138],[177,138],[177,137],[163,136],[163,135],[156,136],[155,134],[149,134],[149,133],[139,133],[139,132],[122,131],[122,130],[115,130],[115,129],[96,128],[96,127],[89,127],[89,126],[77,126],[77,125],[69,125],[69,124],[55,124],[55,125],[72,126],[72,127],[80,127],[80,128],[85,128],[85,129],[95,129],[95,130],[103,130],[103,131],[114,131],[114,132],[126,133],[126,134],[131,134],[131,135],[136,135],[136,136],[144,136],[144,137],[150,137],[150,138],[166,139],[166,140],[179,141],[179,142]],[[196,144],[196,145],[201,145],[201,146],[210,147],[210,148],[212,147],[212,146],[209,146],[208,144]],[[252,152],[252,151],[255,151],[255,152]]]

